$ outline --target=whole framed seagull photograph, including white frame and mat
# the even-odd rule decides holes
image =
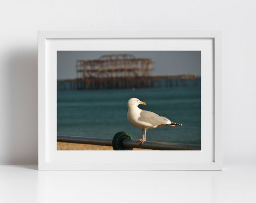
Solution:
[[[221,170],[220,31],[39,31],[39,170]]]

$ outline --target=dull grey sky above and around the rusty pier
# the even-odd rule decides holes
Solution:
[[[136,58],[151,58],[153,75],[201,75],[201,51],[57,51],[57,78],[76,77],[76,60],[94,60],[105,54],[133,54]]]

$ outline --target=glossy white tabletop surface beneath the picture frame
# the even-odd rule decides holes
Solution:
[[[37,171],[0,166],[1,203],[255,203],[256,165],[223,171]]]

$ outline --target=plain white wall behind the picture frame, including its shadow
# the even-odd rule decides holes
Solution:
[[[255,0],[4,0],[0,164],[37,164],[37,30],[222,30],[223,161],[256,160]]]

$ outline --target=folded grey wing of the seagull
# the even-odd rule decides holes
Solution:
[[[140,112],[140,117],[138,118],[140,121],[147,122],[152,124],[152,126],[171,124],[171,121],[163,116],[159,116],[156,113],[151,111],[142,110]]]

